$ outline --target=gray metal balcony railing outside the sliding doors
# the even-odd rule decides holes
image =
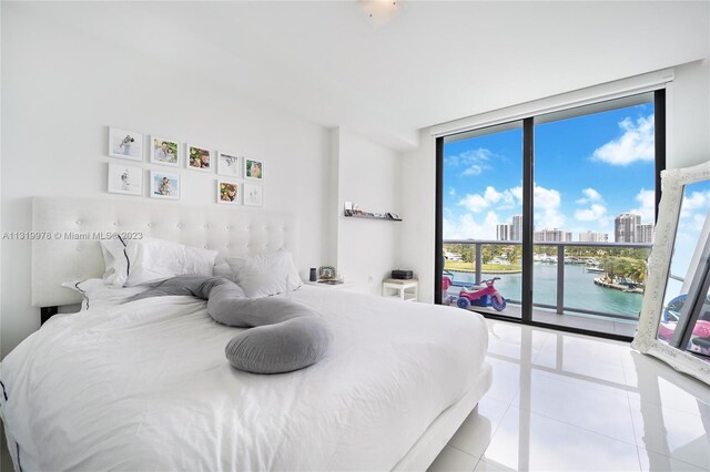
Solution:
[[[483,275],[483,247],[486,245],[496,245],[496,246],[521,246],[520,242],[509,242],[509,240],[486,240],[486,239],[445,239],[444,245],[474,245],[475,246],[475,280],[476,284],[481,281]],[[591,315],[597,317],[605,318],[616,318],[620,320],[632,320],[637,321],[637,317],[632,317],[625,314],[615,314],[599,310],[590,310],[579,307],[569,307],[565,305],[565,265],[566,258],[566,248],[567,247],[596,247],[599,249],[609,248],[609,249],[625,249],[625,248],[633,248],[633,249],[650,249],[652,247],[651,244],[643,243],[587,243],[587,242],[535,242],[534,246],[538,247],[557,247],[557,300],[555,305],[549,304],[539,304],[534,302],[534,307],[555,310],[557,315],[564,315],[565,312],[577,312],[580,315]],[[576,256],[575,256],[576,257]],[[455,271],[455,269],[452,269]],[[454,280],[453,286],[463,287],[470,284],[466,283],[457,283]],[[532,287],[535,291],[535,285]],[[516,305],[520,305],[520,300],[506,298],[507,301]],[[479,309],[479,307],[474,307],[475,309]]]

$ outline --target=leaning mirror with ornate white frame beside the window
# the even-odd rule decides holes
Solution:
[[[632,347],[710,384],[710,162],[661,173]]]

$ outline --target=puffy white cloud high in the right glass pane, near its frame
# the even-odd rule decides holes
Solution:
[[[626,117],[619,122],[619,127],[623,134],[595,150],[592,158],[612,165],[629,165],[637,161],[653,162],[653,115],[640,116],[636,122]]]

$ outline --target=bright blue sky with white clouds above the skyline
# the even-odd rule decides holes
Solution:
[[[535,126],[535,228],[609,234],[621,213],[653,223],[653,104]],[[495,239],[521,214],[523,130],[444,147],[444,238]],[[703,194],[710,205],[710,193]]]

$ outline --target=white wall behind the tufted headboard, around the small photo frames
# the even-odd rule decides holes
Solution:
[[[115,125],[264,160],[264,209],[300,217],[302,276],[326,258],[327,130],[197,79],[187,66],[62,30],[22,3],[3,3],[1,39],[3,230],[30,229],[32,196],[138,198],[105,192],[106,163],[116,161],[105,155],[106,126]],[[215,174],[180,173],[183,202],[216,205]],[[4,356],[40,318],[30,307],[30,244],[3,240],[1,250]]]

